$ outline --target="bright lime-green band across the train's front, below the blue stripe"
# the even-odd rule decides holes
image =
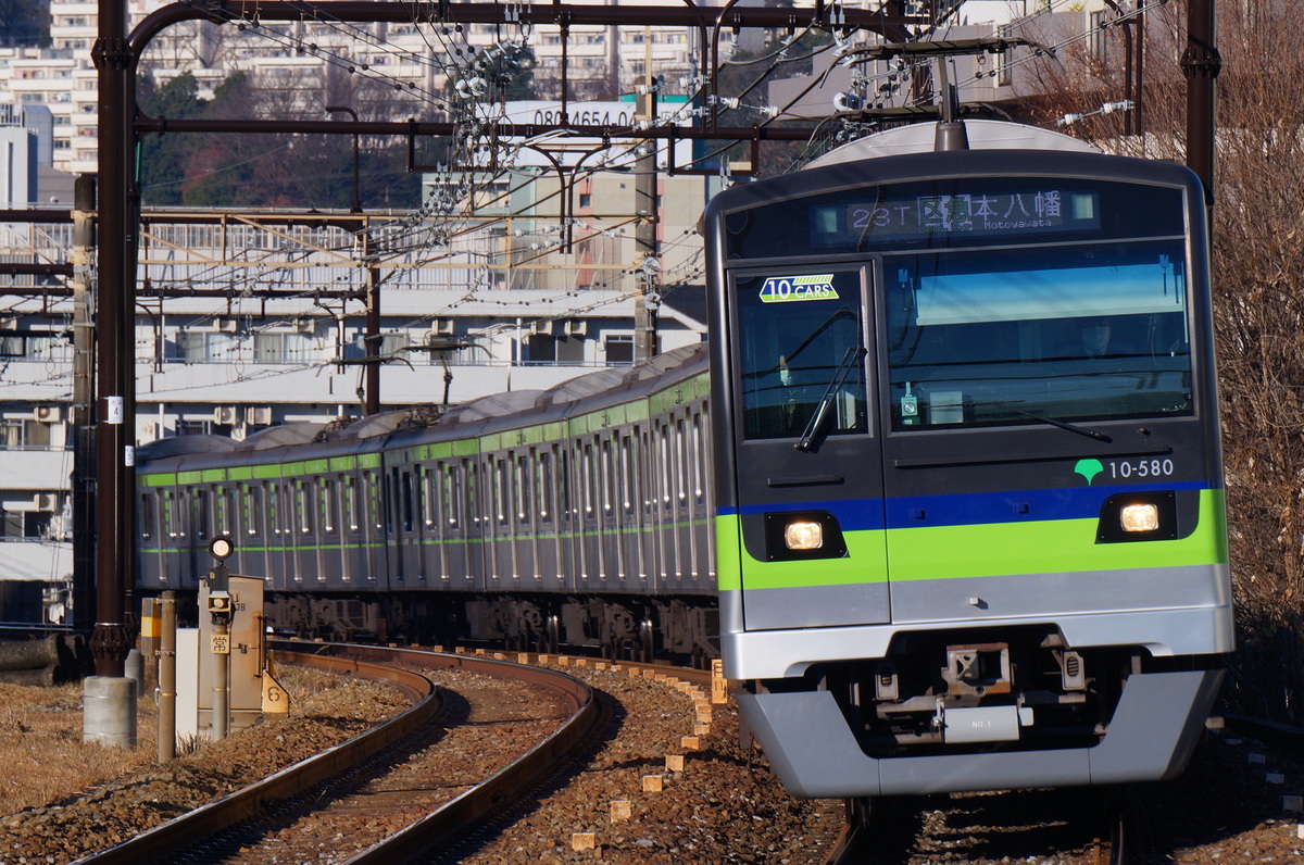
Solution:
[[[721,591],[742,588],[743,573],[747,588],[876,583],[885,578],[884,541],[893,581],[1219,565],[1224,521],[1223,491],[1206,489],[1196,531],[1179,540],[1098,544],[1095,518],[1056,519],[846,532],[846,558],[763,562],[743,551],[738,517],[725,515],[716,518],[716,573]]]

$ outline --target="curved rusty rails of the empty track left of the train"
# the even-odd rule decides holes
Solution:
[[[556,671],[415,648],[300,642],[278,643],[275,648],[287,663],[393,682],[412,698],[413,705],[390,721],[312,759],[156,826],[117,847],[78,860],[78,864],[256,860],[256,856],[245,856],[249,851],[239,840],[240,827],[266,822],[270,814],[293,812],[296,802],[305,796],[323,800],[313,801],[309,806],[319,810],[325,806],[325,800],[331,798],[323,791],[352,788],[349,776],[366,771],[369,761],[393,758],[399,753],[396,749],[408,748],[422,731],[446,723],[449,698],[455,695],[437,689],[429,677],[412,668],[464,671],[542,689],[561,707],[558,723],[554,732],[507,766],[496,767],[498,771],[493,771],[489,778],[477,779],[477,783],[426,812],[402,831],[387,835],[382,842],[348,858],[349,862],[398,862],[436,844],[447,844],[501,809],[514,793],[529,789],[539,779],[553,774],[559,765],[582,751],[602,725],[602,711],[591,689]],[[232,856],[231,851],[236,855]]]

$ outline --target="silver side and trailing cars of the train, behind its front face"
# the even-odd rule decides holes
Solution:
[[[209,544],[299,634],[717,652],[705,347],[548,391],[137,458],[138,586],[193,591]]]

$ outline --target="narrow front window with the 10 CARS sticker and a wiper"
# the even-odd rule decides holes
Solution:
[[[861,271],[739,278],[743,436],[866,432]]]

